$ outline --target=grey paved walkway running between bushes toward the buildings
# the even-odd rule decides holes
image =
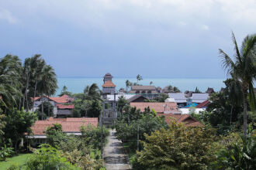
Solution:
[[[104,166],[107,170],[128,170],[130,165],[123,152],[122,141],[115,137],[115,130],[110,130],[109,143],[103,150]]]

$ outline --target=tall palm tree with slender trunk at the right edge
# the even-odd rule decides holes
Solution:
[[[251,110],[255,110],[256,99],[254,95],[254,80],[256,79],[256,34],[248,35],[244,38],[240,50],[237,40],[232,32],[234,42],[234,60],[222,49],[219,49],[223,58],[223,68],[240,83],[244,100],[244,137],[247,136],[247,91],[249,90]]]

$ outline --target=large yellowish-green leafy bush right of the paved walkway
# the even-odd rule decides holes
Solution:
[[[206,169],[215,160],[215,137],[209,128],[191,128],[171,122],[168,130],[145,134],[138,162],[157,169]]]

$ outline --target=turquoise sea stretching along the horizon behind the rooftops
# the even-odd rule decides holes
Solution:
[[[99,88],[102,89],[103,78],[58,78],[58,89],[56,94],[60,94],[62,87],[66,86],[67,90],[71,93],[82,93],[87,85],[97,83]],[[137,82],[135,78],[113,78],[112,82],[116,84],[116,90],[121,87],[126,88],[126,80],[130,82]],[[167,87],[169,85],[178,87],[179,90],[184,92],[185,90],[195,90],[197,87],[200,91],[205,92],[208,87],[212,87],[215,91],[219,91],[221,87],[225,87],[223,83],[224,79],[178,79],[178,78],[144,78],[139,83],[142,85],[152,85],[155,87]]]

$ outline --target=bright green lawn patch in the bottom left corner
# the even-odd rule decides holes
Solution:
[[[22,165],[23,163],[26,162],[29,155],[32,155],[32,154],[19,154],[18,156],[14,156],[12,158],[7,158],[6,162],[0,162],[0,169],[5,170],[5,169],[9,168],[10,165],[12,165],[12,164]]]

